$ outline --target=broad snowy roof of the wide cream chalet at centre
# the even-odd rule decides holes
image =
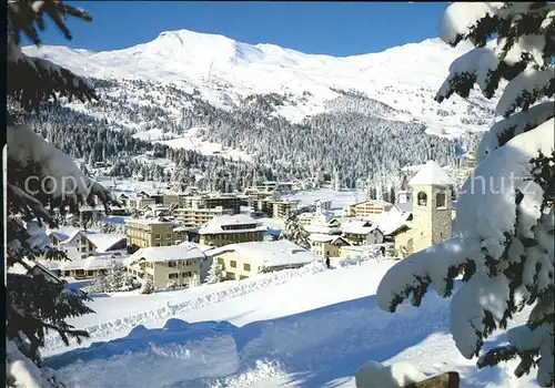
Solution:
[[[236,252],[245,261],[269,268],[307,264],[316,259],[314,253],[287,239],[231,244],[214,249],[213,255],[230,251]]]

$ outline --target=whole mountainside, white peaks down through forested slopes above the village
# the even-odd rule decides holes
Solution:
[[[434,101],[470,48],[428,39],[335,58],[188,30],[105,52],[27,47],[87,75],[100,100],[62,100],[26,120],[73,157],[109,162],[113,176],[225,192],[332,176],[400,186],[403,167],[431,157],[456,166],[492,124],[497,99]]]

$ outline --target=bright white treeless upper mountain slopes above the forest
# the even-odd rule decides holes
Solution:
[[[470,48],[462,43],[453,49],[440,39],[427,39],[379,53],[335,58],[179,30],[123,50],[43,45],[23,51],[83,75],[141,79],[196,90],[216,108],[234,108],[252,94],[276,93],[287,99],[272,114],[291,122],[334,111],[341,91],[355,90],[386,104],[389,120],[416,120],[427,133],[456,136],[467,130],[485,130],[494,106],[477,93],[470,102],[457,96],[442,105],[433,101],[451,62]]]

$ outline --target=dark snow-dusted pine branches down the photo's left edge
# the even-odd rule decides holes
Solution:
[[[16,264],[30,269],[28,261],[48,253],[43,223],[56,225],[50,212],[60,210],[63,214],[69,206],[77,213],[79,204],[94,206],[95,197],[109,202],[108,191],[82,174],[71,157],[21,123],[22,112],[38,113],[41,102],[57,94],[83,101],[97,98],[85,81],[69,70],[21,52],[21,32],[38,45],[40,39],[34,25],[42,30],[46,17],[70,39],[67,16],[90,20],[84,11],[62,1],[8,1],[7,219],[2,228],[8,267],[3,292],[8,305],[8,387],[61,386],[52,371],[41,366],[39,348],[44,345],[46,331],[57,331],[67,345],[70,337],[80,341],[88,333],[74,329],[65,319],[92,313],[84,305],[88,296],[65,288],[63,282],[10,273]],[[34,178],[34,185],[28,185],[29,177]],[[41,182],[48,184],[41,187]]]

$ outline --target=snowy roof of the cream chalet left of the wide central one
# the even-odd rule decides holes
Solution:
[[[184,261],[189,258],[204,258],[205,254],[199,244],[185,242],[179,245],[151,246],[141,248],[128,257],[125,263],[132,264],[144,259],[149,263],[162,263],[171,261]]]

